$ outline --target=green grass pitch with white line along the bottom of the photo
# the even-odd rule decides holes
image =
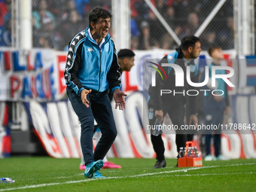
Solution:
[[[108,159],[122,169],[102,169],[107,178],[84,178],[80,159],[11,157],[0,160],[0,191],[256,191],[256,160],[203,161],[202,167],[152,169],[154,159]]]

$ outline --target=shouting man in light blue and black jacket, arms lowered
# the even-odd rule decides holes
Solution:
[[[86,178],[102,178],[98,172],[103,157],[117,136],[108,92],[114,94],[116,107],[123,110],[126,96],[120,90],[120,66],[114,42],[108,34],[111,14],[94,8],[89,15],[90,26],[69,43],[65,80],[67,95],[81,122],[81,149]],[[102,131],[93,154],[94,119]]]

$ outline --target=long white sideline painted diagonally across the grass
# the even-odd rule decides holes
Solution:
[[[247,165],[254,165],[254,164],[256,164],[256,163],[245,163],[245,164],[239,163],[239,164],[232,164],[232,165],[227,165],[227,166],[247,166]],[[151,173],[145,173],[145,174],[140,174],[140,175],[128,175],[128,176],[123,176],[123,177],[108,177],[108,178],[99,178],[99,179],[96,178],[96,179],[85,179],[85,180],[82,179],[82,180],[77,180],[77,181],[65,181],[65,182],[58,182],[58,183],[33,184],[33,185],[26,185],[24,187],[13,187],[13,188],[8,188],[8,189],[1,189],[0,191],[46,187],[46,186],[57,185],[57,184],[73,184],[73,183],[81,183],[81,182],[97,181],[97,180],[103,180],[103,179],[113,179],[113,178],[136,178],[136,177],[143,177],[143,176],[148,176],[148,175],[159,175],[159,174],[172,173],[172,172],[184,172],[184,170],[188,171],[188,170],[207,169],[207,168],[214,168],[214,167],[221,167],[221,166],[199,166],[199,167],[192,167],[192,168],[188,168],[188,169],[178,169],[178,170],[165,171],[165,172],[151,172]],[[248,174],[252,174],[252,173],[253,172],[248,172]],[[233,174],[234,173],[232,173],[232,175]],[[195,175],[199,175],[199,174],[195,174]],[[215,175],[215,173],[201,174],[201,175]],[[216,174],[216,175],[228,175],[228,173],[227,174]],[[168,176],[170,176],[170,175],[168,175]],[[190,175],[186,174],[186,175],[178,175],[178,176],[190,176]]]

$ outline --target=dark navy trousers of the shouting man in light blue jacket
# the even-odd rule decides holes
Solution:
[[[85,165],[95,160],[103,160],[117,136],[108,93],[89,93],[87,95],[87,100],[90,102],[89,108],[83,104],[81,96],[78,96],[70,87],[67,87],[67,95],[72,103],[72,108],[81,122],[80,142]],[[94,118],[99,124],[102,137],[99,139],[93,154]]]

